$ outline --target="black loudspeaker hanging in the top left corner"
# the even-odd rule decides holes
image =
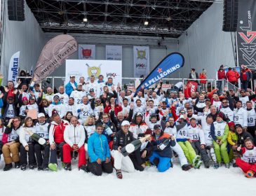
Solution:
[[[8,18],[15,21],[25,20],[24,0],[8,0]]]

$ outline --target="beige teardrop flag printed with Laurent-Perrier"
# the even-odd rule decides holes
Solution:
[[[77,42],[74,37],[67,34],[55,36],[43,47],[41,55],[36,63],[32,81],[41,82],[57,69],[70,55],[77,50]]]

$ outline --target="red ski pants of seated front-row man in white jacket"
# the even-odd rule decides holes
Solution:
[[[70,163],[71,162],[71,151],[74,151],[73,148],[69,146],[69,144],[63,145],[63,162]],[[81,146],[79,150],[77,151],[79,153],[79,168],[82,165],[86,165],[86,150],[84,149],[84,146]]]

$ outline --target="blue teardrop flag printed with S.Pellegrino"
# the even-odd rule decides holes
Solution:
[[[184,65],[184,57],[178,53],[173,52],[170,55],[166,56],[154,69],[149,73],[147,78],[145,78],[142,83],[137,87],[137,91],[139,91],[144,85],[145,88],[149,88],[149,86],[158,82],[162,78],[166,78],[170,73],[173,73],[180,69]]]

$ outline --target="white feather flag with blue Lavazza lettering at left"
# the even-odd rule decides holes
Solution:
[[[10,64],[9,64],[8,80],[13,81],[14,85],[16,85],[16,81],[17,81],[19,64],[20,64],[20,51],[16,52],[11,57]]]

